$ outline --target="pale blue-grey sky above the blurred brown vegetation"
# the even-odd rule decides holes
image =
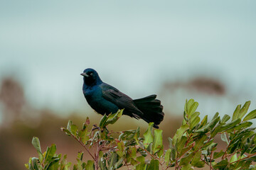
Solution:
[[[217,77],[256,106],[256,1],[0,1],[0,79],[37,108],[87,108],[90,67],[132,98]],[[161,98],[164,100],[164,98]],[[183,101],[182,101],[183,102]]]

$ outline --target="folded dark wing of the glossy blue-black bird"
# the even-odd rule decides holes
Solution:
[[[143,113],[139,111],[137,106],[134,105],[134,102],[132,101],[132,98],[127,96],[126,94],[123,94],[118,89],[114,88],[113,86],[110,86],[109,84],[101,84],[100,85],[102,89],[103,98],[105,98],[107,101],[110,101],[114,103],[119,108],[124,108],[124,111],[126,113],[130,113],[132,117],[139,118],[142,117]],[[132,114],[136,113],[136,115]]]

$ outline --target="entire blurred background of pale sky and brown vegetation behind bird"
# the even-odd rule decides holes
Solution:
[[[91,67],[132,98],[157,94],[164,137],[181,125],[186,98],[201,118],[256,108],[256,1],[0,1],[0,169],[25,169],[43,151],[74,162],[82,149],[60,131],[98,115],[82,94]],[[210,117],[211,118],[211,117]],[[123,116],[112,130],[147,127]],[[165,141],[167,142],[167,140]]]

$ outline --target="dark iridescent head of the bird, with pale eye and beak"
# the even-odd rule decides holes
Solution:
[[[102,83],[99,74],[97,74],[94,69],[85,69],[81,75],[83,76],[84,83],[87,86],[94,86],[96,84]]]

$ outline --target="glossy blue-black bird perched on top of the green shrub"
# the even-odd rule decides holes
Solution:
[[[164,119],[163,106],[156,95],[146,96],[133,100],[113,86],[104,83],[94,69],[85,69],[82,92],[87,103],[101,115],[117,113],[124,108],[124,115],[132,118],[142,118],[147,123],[153,122],[154,128]]]

